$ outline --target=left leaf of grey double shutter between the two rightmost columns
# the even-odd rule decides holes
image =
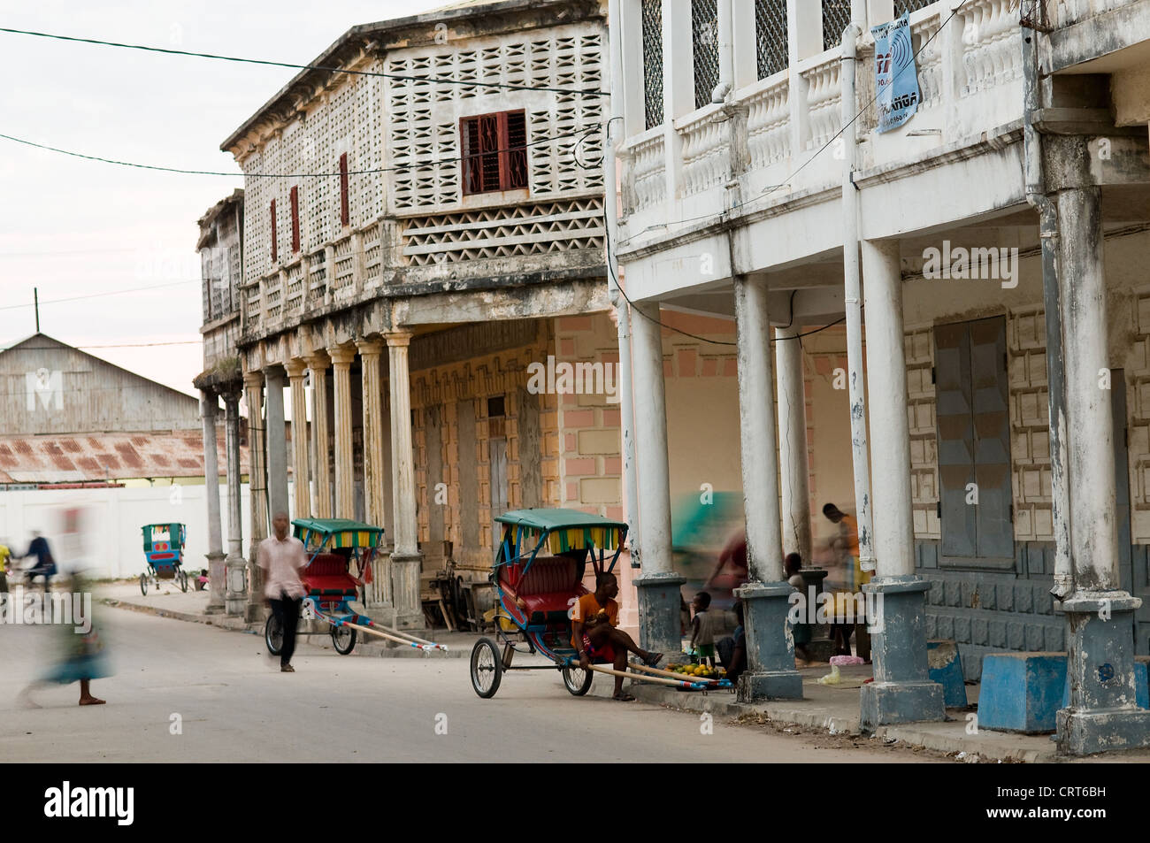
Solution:
[[[973,557],[976,524],[966,504],[966,485],[974,482],[971,335],[965,322],[937,325],[934,334],[942,553]]]

